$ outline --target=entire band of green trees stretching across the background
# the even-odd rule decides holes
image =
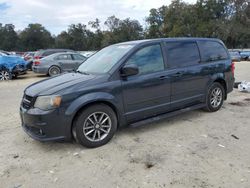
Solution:
[[[37,50],[70,48],[99,50],[124,41],[159,37],[215,37],[229,48],[250,48],[250,3],[247,0],[197,0],[188,4],[173,0],[168,6],[151,9],[146,28],[137,20],[110,16],[101,30],[99,19],[72,24],[67,31],[51,36],[41,24],[29,24],[17,34],[12,24],[0,24],[0,49]]]

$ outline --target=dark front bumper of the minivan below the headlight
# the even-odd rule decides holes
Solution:
[[[58,109],[42,111],[31,108],[26,110],[20,107],[20,116],[23,130],[38,141],[70,140],[70,122],[60,116]]]

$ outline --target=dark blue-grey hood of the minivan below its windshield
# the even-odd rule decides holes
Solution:
[[[95,75],[84,75],[80,73],[66,73],[54,78],[36,82],[25,89],[25,94],[31,97],[37,95],[52,95],[77,83],[87,83],[94,79]]]

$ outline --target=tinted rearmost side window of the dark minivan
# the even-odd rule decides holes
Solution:
[[[203,62],[228,59],[228,54],[222,44],[215,41],[199,41]]]

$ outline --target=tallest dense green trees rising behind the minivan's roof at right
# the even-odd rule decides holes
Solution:
[[[147,38],[214,37],[229,48],[250,47],[250,3],[247,0],[198,0],[190,5],[173,0],[151,9]]]

